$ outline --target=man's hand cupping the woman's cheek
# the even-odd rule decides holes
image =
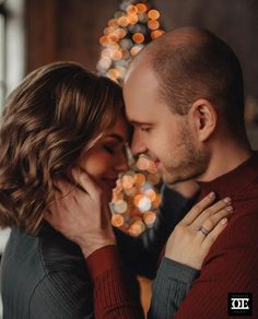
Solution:
[[[72,169],[74,185],[56,181],[55,202],[46,220],[89,257],[95,250],[116,245],[108,201],[102,188],[81,168]]]

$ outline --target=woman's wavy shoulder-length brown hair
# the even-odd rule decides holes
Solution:
[[[36,233],[63,176],[124,111],[121,88],[73,62],[28,74],[0,128],[0,226]]]

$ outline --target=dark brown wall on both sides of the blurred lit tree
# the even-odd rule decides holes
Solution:
[[[98,38],[119,9],[118,0],[27,0],[27,70],[75,60],[95,70]],[[257,0],[155,0],[165,29],[203,26],[225,39],[239,57],[248,93],[258,97]]]

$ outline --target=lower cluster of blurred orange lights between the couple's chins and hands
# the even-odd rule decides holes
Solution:
[[[156,218],[161,196],[156,187],[161,178],[154,163],[141,155],[131,169],[124,173],[113,190],[112,223],[131,236],[139,236]],[[151,173],[149,172],[151,167]]]

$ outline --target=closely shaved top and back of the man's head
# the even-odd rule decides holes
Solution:
[[[133,70],[151,69],[160,96],[177,114],[187,114],[206,98],[232,128],[244,125],[244,88],[241,64],[233,50],[207,29],[181,27],[149,44],[133,60]]]

